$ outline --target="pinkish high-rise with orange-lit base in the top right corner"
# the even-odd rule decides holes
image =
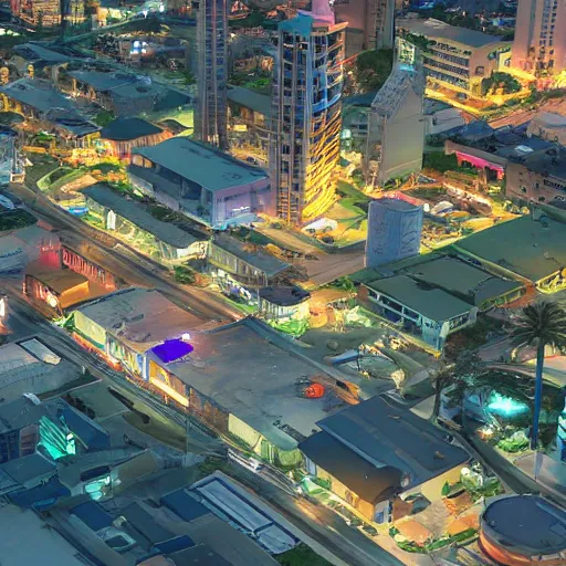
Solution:
[[[511,65],[541,74],[566,67],[566,2],[520,0]]]

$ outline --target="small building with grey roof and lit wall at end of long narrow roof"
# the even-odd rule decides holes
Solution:
[[[230,286],[270,286],[277,277],[289,273],[291,265],[263,250],[228,234],[217,234],[211,240],[208,258],[211,273],[221,289]]]

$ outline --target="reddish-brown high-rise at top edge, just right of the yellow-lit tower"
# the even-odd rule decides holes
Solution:
[[[368,49],[392,49],[395,0],[336,0],[337,22],[348,22],[346,56]]]

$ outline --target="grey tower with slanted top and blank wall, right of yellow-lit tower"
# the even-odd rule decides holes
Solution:
[[[368,185],[382,187],[390,179],[420,171],[423,93],[424,71],[418,50],[397,39],[394,70],[371,103],[364,159]]]

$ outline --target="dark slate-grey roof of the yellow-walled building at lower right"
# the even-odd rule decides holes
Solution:
[[[323,431],[377,468],[392,467],[419,485],[470,458],[442,440],[429,421],[384,397],[373,397],[317,423]],[[352,460],[355,464],[356,459]]]

